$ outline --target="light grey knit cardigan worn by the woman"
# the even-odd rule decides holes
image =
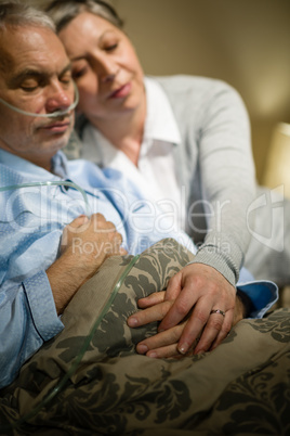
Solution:
[[[255,194],[247,111],[223,81],[155,79],[168,95],[182,137],[174,153],[187,202],[186,231],[199,247],[195,261],[212,266],[235,284],[250,242],[247,209]],[[80,138],[83,129],[82,120]],[[74,157],[81,157],[81,150]]]

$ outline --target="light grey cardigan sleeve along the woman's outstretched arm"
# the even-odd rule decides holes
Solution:
[[[248,210],[255,194],[248,114],[239,94],[215,81],[200,107],[199,167],[207,235],[195,262],[220,271],[233,285],[250,243]]]

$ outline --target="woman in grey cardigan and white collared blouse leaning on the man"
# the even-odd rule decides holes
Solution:
[[[235,284],[251,239],[247,211],[255,177],[243,103],[219,80],[144,77],[121,20],[104,1],[53,1],[47,11],[79,89],[79,156],[123,171],[199,246],[194,262],[169,283],[166,300],[174,304],[160,330],[190,312],[180,352],[200,335],[195,352],[212,349],[230,330]],[[145,299],[142,307],[157,303]],[[154,348],[149,341],[140,352]]]

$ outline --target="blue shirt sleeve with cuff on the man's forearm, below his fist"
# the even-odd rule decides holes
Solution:
[[[63,330],[45,271],[0,288],[0,388],[9,385],[22,364],[43,342]]]

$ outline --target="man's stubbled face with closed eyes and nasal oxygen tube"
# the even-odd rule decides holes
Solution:
[[[14,27],[0,33],[0,98],[34,114],[66,110],[74,101],[70,63],[62,42],[48,28]],[[0,148],[47,167],[64,148],[74,114],[40,118],[0,102]]]

